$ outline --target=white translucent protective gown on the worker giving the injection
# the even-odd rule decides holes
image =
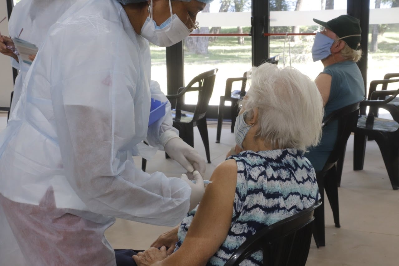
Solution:
[[[167,100],[149,82],[148,42],[120,3],[79,0],[50,28],[0,135],[0,193],[39,205],[51,188],[57,208],[106,226],[178,224],[188,184],[132,159],[144,138],[162,147],[177,136],[170,114],[148,128],[150,97]]]

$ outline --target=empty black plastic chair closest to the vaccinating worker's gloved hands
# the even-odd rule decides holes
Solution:
[[[206,71],[194,77],[186,87],[181,87],[178,94],[166,95],[169,100],[176,99],[176,108],[172,109],[173,126],[179,131],[180,137],[191,147],[194,147],[194,127],[197,126],[203,145],[205,146],[206,159],[211,163],[209,151],[208,128],[206,111],[213,92],[217,68]],[[193,87],[198,83],[198,87]],[[198,101],[194,112],[182,110],[184,94],[189,91],[198,91]]]

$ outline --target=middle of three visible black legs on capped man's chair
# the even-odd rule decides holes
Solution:
[[[340,210],[338,202],[338,186],[336,181],[337,169],[336,166],[332,167],[324,176],[324,189],[328,201],[330,202],[332,214],[334,216],[335,227],[340,228]]]

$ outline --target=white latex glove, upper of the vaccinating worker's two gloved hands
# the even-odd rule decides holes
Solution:
[[[205,160],[193,147],[185,143],[182,139],[170,139],[164,145],[164,149],[170,158],[180,163],[188,172],[191,173],[197,170],[199,173],[205,173]]]

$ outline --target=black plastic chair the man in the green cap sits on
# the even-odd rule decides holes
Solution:
[[[338,120],[338,135],[334,149],[331,151],[322,171],[316,173],[317,184],[319,186],[319,192],[323,202],[320,208],[314,211],[315,222],[313,236],[317,247],[326,245],[324,228],[324,190],[326,190],[326,195],[328,197],[328,201],[330,202],[334,216],[335,227],[340,227],[338,179],[340,180],[342,175],[342,165],[345,158],[346,143],[352,130],[356,127],[358,116],[359,103],[354,103],[333,111],[323,120],[323,127],[332,121]]]

